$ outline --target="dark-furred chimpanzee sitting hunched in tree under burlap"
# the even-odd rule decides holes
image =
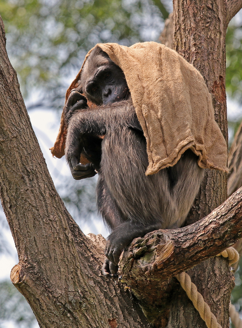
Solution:
[[[111,231],[102,272],[113,278],[134,238],[183,224],[204,170],[188,149],[176,165],[145,175],[146,140],[124,73],[100,48],[87,57],[79,83],[64,108],[66,159],[76,180],[98,172],[97,207]],[[89,108],[87,99],[97,108]],[[80,154],[90,163],[80,164]]]

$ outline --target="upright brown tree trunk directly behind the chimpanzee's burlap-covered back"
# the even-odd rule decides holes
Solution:
[[[224,0],[174,0],[173,47],[204,77],[213,95],[215,120],[226,140],[225,36],[234,11],[241,5],[241,1],[229,1],[227,4]],[[207,171],[187,222],[208,215],[226,198],[226,174]],[[229,301],[234,282],[226,261],[211,258],[188,273],[218,322],[223,327],[229,327]],[[168,327],[206,327],[181,288],[178,295],[174,294]]]

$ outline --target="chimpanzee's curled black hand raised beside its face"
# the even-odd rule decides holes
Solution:
[[[73,89],[64,107],[65,124],[68,125],[72,114],[78,109],[88,108],[87,100],[83,94]]]

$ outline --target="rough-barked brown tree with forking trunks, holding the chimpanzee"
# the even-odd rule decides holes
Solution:
[[[232,0],[174,1],[174,49],[204,76],[226,139],[225,33],[241,7]],[[226,260],[212,256],[242,236],[242,190],[217,208],[227,197],[226,175],[207,171],[191,225],[136,238],[121,260],[128,286],[105,280],[104,240],[84,236],[56,193],[7,58],[2,21],[1,34],[0,195],[19,255],[11,279],[40,327],[204,327],[172,278],[189,269],[218,322],[228,326],[233,275]]]

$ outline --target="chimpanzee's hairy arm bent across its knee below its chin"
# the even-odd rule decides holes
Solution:
[[[80,154],[90,138],[104,135],[107,129],[112,133],[120,126],[143,133],[131,100],[101,105],[95,110],[88,107],[82,109],[81,106],[76,106],[72,114],[66,138],[66,159],[74,179],[83,178],[84,166],[79,163]]]

